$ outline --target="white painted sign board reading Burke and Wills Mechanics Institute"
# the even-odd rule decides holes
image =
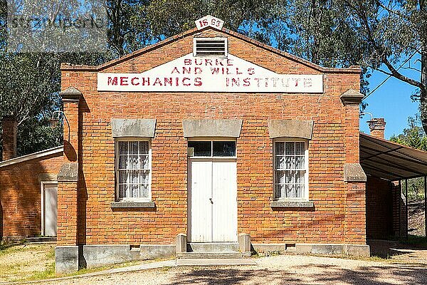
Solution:
[[[279,74],[228,54],[181,58],[142,73],[97,73],[98,91],[323,93],[322,74]]]

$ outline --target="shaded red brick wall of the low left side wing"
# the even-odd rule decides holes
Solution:
[[[0,237],[41,234],[40,175],[57,175],[62,162],[61,152],[0,168]]]

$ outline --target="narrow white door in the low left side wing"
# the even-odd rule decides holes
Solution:
[[[58,185],[45,184],[43,190],[43,234],[56,237],[56,220],[58,214]]]

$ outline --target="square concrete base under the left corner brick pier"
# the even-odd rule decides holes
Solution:
[[[69,273],[78,271],[78,246],[65,246],[55,248],[56,273]]]

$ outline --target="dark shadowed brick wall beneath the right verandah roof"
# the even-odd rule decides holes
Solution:
[[[392,234],[391,182],[368,176],[367,180],[367,238],[387,239]]]

